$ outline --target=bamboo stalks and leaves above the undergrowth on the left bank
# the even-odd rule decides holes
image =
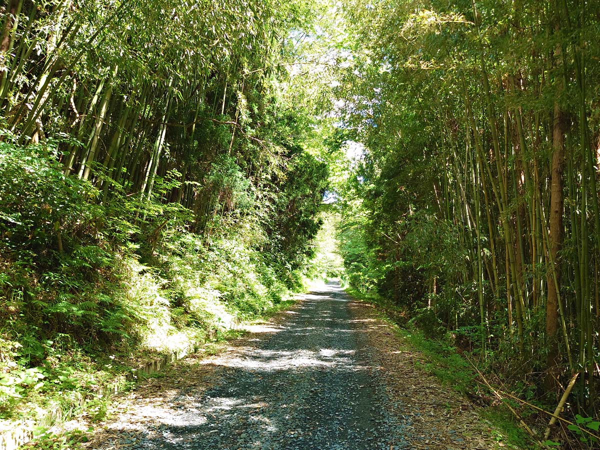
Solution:
[[[61,146],[65,175],[92,181],[103,200],[115,185],[149,198],[157,176],[177,171],[185,186],[169,200],[205,215],[214,199],[193,183],[211,162],[245,158],[247,176],[255,156],[269,162],[265,136],[248,126],[264,110],[248,103],[268,107],[259,97],[294,20],[272,7],[11,1],[0,48],[6,128],[20,145],[70,134],[82,145]]]

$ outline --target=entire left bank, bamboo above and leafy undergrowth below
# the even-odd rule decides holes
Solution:
[[[101,412],[97,386],[139,358],[302,288],[328,168],[287,37],[314,12],[0,8],[2,418]]]

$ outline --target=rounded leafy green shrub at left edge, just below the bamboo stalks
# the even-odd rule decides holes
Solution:
[[[58,163],[58,145],[28,147],[0,142],[0,233],[3,252],[19,260],[49,259],[73,235],[90,231],[97,219],[97,191],[88,182],[66,177]],[[64,142],[64,141],[62,141]]]

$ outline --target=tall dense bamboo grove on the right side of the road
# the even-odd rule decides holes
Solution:
[[[575,408],[589,415],[600,389],[599,10],[350,2],[359,37],[339,88],[366,146],[345,185],[350,282],[415,308],[433,333],[454,330],[541,394],[579,373]]]

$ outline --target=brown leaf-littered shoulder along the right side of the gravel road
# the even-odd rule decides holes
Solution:
[[[401,409],[397,415],[413,428],[412,437],[407,437],[410,445],[427,450],[517,449],[482,419],[480,407],[424,369],[426,356],[403,338],[396,325],[383,320],[376,306],[353,298],[349,307],[354,320],[364,323],[368,345],[376,350],[390,403]]]

